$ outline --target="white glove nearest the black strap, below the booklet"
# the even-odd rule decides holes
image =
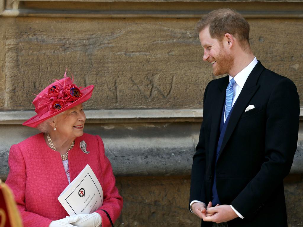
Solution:
[[[101,216],[96,212],[66,216],[66,219],[69,223],[78,227],[101,227],[102,224]]]

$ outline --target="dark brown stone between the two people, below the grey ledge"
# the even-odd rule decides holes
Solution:
[[[115,225],[122,226],[200,226],[188,210],[188,176],[117,178],[124,199],[122,215]]]

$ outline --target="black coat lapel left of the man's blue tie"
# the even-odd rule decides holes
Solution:
[[[229,83],[228,76],[224,77],[221,84],[218,85],[217,96],[214,97],[215,102],[212,107],[211,116],[211,131],[210,131],[210,141],[209,141],[209,162],[211,166],[213,164],[214,156],[217,149],[218,138],[219,138],[219,127],[221,122],[222,109],[225,102],[225,91]]]

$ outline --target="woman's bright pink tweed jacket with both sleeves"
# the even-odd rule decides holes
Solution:
[[[80,149],[85,140],[88,154]],[[104,211],[113,222],[118,219],[123,199],[115,187],[112,166],[104,154],[100,137],[84,133],[75,139],[74,147],[68,152],[71,181],[89,164],[97,176],[104,201],[96,211],[102,217],[102,227],[111,226]],[[24,227],[48,227],[52,220],[68,216],[58,201],[58,196],[68,186],[68,179],[58,152],[45,143],[43,133],[32,136],[11,147],[8,156],[10,171],[5,183],[12,189]]]

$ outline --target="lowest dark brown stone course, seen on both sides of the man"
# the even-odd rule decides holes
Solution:
[[[285,179],[288,227],[303,223],[303,180],[301,175]],[[116,185],[124,199],[122,214],[115,226],[193,226],[199,218],[188,210],[189,176],[117,177]]]

